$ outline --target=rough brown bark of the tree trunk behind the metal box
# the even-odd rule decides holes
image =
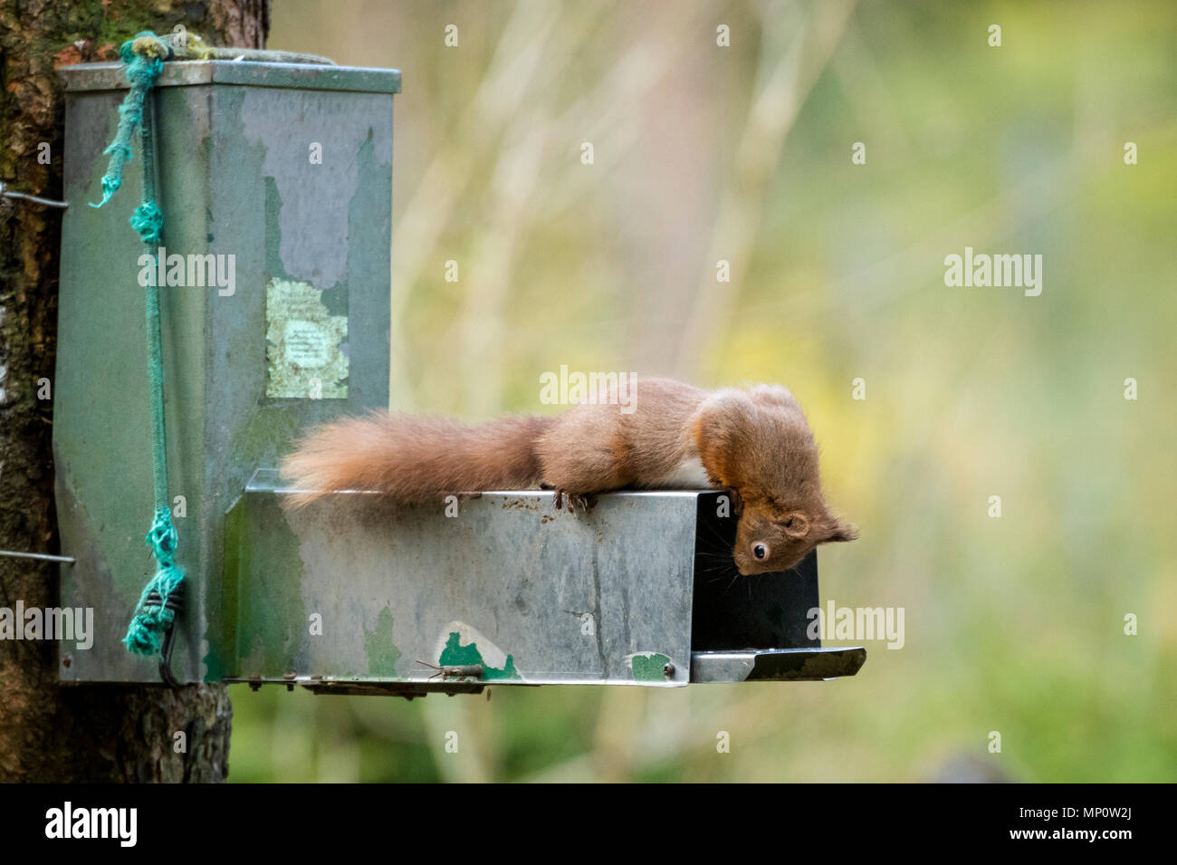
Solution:
[[[0,180],[61,197],[59,66],[117,60],[142,29],[264,47],[270,0],[0,0]],[[51,161],[38,160],[48,142]],[[44,149],[44,148],[42,148]],[[56,552],[51,431],[60,211],[0,197],[0,550]],[[0,557],[0,606],[56,605],[56,566]],[[228,773],[222,685],[58,686],[58,646],[0,640],[0,781],[215,781]],[[187,753],[174,753],[185,731]]]

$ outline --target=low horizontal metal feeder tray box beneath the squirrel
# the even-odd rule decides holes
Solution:
[[[228,517],[232,681],[320,693],[853,676],[809,633],[817,555],[739,577],[723,491],[614,492],[588,513],[540,490],[397,506],[340,491],[285,512],[260,470]]]

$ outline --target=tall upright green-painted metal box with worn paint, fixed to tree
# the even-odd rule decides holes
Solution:
[[[137,153],[101,209],[117,64],[66,82],[54,459],[61,605],[93,607],[93,645],[62,644],[64,681],[159,681],[120,640],[154,572],[142,247],[127,218]],[[400,73],[168,62],[149,100],[165,214],[161,286],[168,466],[187,574],[173,671],[235,671],[221,573],[225,517],[308,424],[387,404],[393,94]],[[228,665],[228,666],[227,666]]]

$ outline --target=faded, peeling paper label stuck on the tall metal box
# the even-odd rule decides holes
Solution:
[[[266,286],[266,395],[347,398],[347,317],[332,315],[310,282]]]

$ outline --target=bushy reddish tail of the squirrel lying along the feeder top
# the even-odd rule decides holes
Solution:
[[[507,417],[470,426],[447,418],[374,411],[320,426],[282,460],[301,507],[337,490],[377,490],[397,501],[520,490],[539,480],[536,440],[552,418]]]

